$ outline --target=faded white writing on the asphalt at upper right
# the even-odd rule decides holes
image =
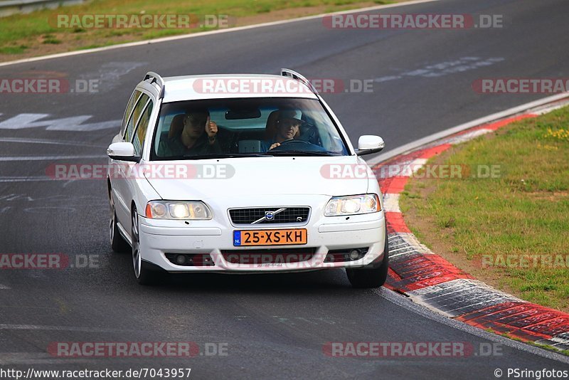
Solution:
[[[506,58],[502,57],[462,57],[457,60],[445,60],[440,63],[435,63],[434,65],[427,65],[423,68],[418,68],[416,70],[405,71],[399,75],[388,75],[380,78],[375,78],[374,81],[382,83],[389,80],[398,80],[405,77],[438,78],[444,75],[462,73],[464,71],[494,65],[494,63],[499,63],[505,59]]]

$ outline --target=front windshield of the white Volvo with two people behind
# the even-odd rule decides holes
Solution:
[[[319,100],[245,98],[164,103],[151,160],[346,155]]]

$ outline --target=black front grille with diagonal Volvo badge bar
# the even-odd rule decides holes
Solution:
[[[257,207],[229,210],[233,224],[305,223],[308,221],[309,213],[309,207]]]

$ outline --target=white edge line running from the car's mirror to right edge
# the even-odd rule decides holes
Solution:
[[[390,158],[403,154],[405,152],[410,152],[413,149],[417,149],[418,147],[422,147],[423,145],[430,144],[431,142],[435,142],[438,139],[442,139],[444,137],[448,137],[451,134],[455,134],[457,132],[462,132],[464,130],[468,130],[472,127],[477,127],[479,125],[483,125],[489,122],[494,122],[496,120],[502,119],[504,117],[509,117],[513,115],[518,115],[523,112],[530,112],[532,108],[540,107],[546,105],[550,102],[555,102],[558,100],[564,100],[565,98],[569,98],[569,93],[562,93],[562,94],[555,94],[548,97],[543,97],[543,99],[535,100],[533,102],[528,102],[523,105],[518,105],[516,107],[509,108],[508,110],[504,110],[501,112],[496,112],[488,116],[480,117],[479,119],[472,120],[470,122],[465,122],[461,125],[457,125],[456,127],[449,128],[447,130],[442,130],[440,132],[430,134],[429,136],[422,137],[421,139],[417,139],[413,142],[408,144],[401,145],[395,149],[391,149],[389,152],[385,152],[383,154],[379,154],[378,156],[371,157],[367,159],[366,162],[368,165],[375,165],[379,164],[380,162],[386,161]]]

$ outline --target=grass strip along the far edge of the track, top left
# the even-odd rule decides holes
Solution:
[[[1,18],[0,61],[215,29],[200,28],[198,23],[191,29],[56,28],[57,14],[191,14],[198,19],[226,15],[229,26],[243,26],[399,1],[405,0],[95,0]]]

